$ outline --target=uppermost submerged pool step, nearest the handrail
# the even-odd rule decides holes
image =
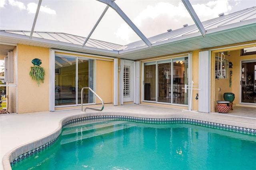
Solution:
[[[126,121],[116,121],[116,120],[100,121],[100,122],[88,123],[88,124],[79,125],[75,127],[65,128],[62,131],[62,136],[72,135],[72,134],[82,134],[88,130],[94,130],[94,129],[99,130],[100,128],[117,125],[121,123],[126,123]]]

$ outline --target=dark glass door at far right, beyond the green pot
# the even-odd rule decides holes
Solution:
[[[256,60],[242,61],[241,102],[256,104]]]

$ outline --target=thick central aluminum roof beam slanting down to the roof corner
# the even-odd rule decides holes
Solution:
[[[132,28],[132,30],[141,38],[141,40],[148,45],[148,47],[151,48],[151,42],[142,34],[142,32],[133,24],[133,22],[126,16],[126,14],[119,8],[119,6],[114,2],[114,0],[97,0],[99,2],[102,2],[104,4],[107,4],[111,8],[113,8],[120,16],[121,18]]]

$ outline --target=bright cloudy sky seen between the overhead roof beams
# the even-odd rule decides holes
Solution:
[[[115,0],[147,38],[193,25],[181,0]],[[190,0],[201,22],[256,6],[256,0]],[[0,0],[0,29],[31,31],[38,0]],[[106,4],[97,0],[42,0],[34,31],[87,37]],[[126,45],[140,40],[118,13],[108,8],[90,37]]]

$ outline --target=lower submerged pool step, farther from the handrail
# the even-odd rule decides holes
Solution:
[[[70,136],[68,138],[65,138],[65,136],[62,136],[60,144],[67,144],[67,143],[75,142],[75,141],[78,141],[78,140],[107,134],[107,133],[114,132],[114,131],[117,131],[117,130],[130,128],[130,127],[133,127],[133,126],[134,125],[116,124],[116,125],[110,125],[110,126],[106,126],[104,128],[100,128],[100,130],[99,129],[88,130],[88,133],[82,133],[82,135],[81,134],[80,135],[73,135],[73,136]]]

